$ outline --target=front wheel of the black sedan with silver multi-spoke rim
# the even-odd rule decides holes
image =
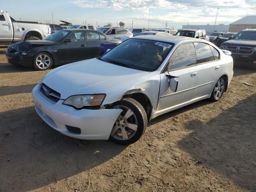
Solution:
[[[34,56],[33,67],[36,70],[44,71],[52,66],[52,56],[46,52],[40,52]]]

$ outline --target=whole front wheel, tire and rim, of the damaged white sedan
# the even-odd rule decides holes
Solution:
[[[124,98],[115,102],[112,108],[121,108],[123,111],[113,125],[110,139],[122,145],[138,141],[148,124],[147,114],[142,105],[132,98]]]

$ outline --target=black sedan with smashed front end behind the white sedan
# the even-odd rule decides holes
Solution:
[[[51,34],[44,40],[14,43],[6,50],[6,57],[10,64],[46,70],[52,65],[101,56],[101,44],[120,42],[95,30],[65,29]]]

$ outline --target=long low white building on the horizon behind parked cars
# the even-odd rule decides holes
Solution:
[[[204,29],[206,32],[228,32],[229,25],[219,24],[215,26],[214,25],[182,25],[183,29]]]

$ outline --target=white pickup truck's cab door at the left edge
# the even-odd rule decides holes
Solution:
[[[0,14],[0,41],[12,41],[12,23],[4,14]]]

